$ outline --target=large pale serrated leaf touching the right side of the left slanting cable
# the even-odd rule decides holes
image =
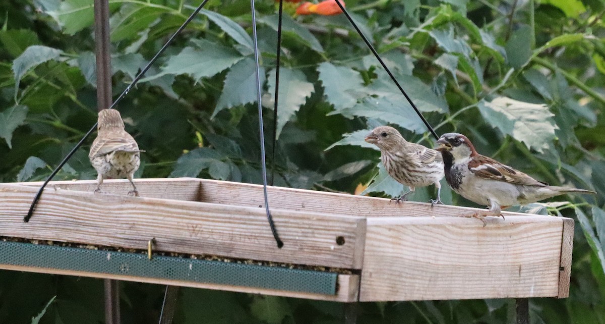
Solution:
[[[198,82],[201,78],[214,76],[244,58],[232,48],[197,39],[192,42],[197,44],[199,49],[185,47],[177,55],[171,56],[161,73],[145,78],[145,81],[166,74],[189,74]]]

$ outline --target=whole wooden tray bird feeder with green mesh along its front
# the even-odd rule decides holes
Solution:
[[[137,179],[129,197],[126,180],[107,180],[107,194],[56,181],[24,223],[39,185],[0,184],[2,269],[338,302],[569,294],[574,221],[563,217],[505,213],[483,227],[457,217],[472,208],[269,187],[280,249],[259,185]],[[151,260],[57,243],[145,251],[151,239]]]

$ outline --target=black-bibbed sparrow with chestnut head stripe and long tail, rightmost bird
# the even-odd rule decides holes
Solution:
[[[443,156],[445,179],[460,196],[489,210],[477,211],[485,226],[485,216],[502,216],[502,209],[525,205],[566,193],[595,194],[594,191],[553,187],[527,174],[477,153],[471,141],[458,133],[443,134],[436,148]],[[502,216],[504,217],[504,216]]]

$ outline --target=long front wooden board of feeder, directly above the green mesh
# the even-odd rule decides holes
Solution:
[[[155,237],[155,251],[361,268],[363,217],[272,208],[280,249],[264,208],[49,188],[24,223],[37,190],[0,184],[0,236],[142,250]],[[344,245],[336,243],[339,236]]]

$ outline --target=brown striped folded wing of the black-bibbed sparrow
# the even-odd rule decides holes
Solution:
[[[468,162],[468,168],[476,176],[485,179],[505,181],[514,183],[515,185],[533,185],[538,187],[545,187],[547,185],[487,156],[479,155],[473,157]]]

